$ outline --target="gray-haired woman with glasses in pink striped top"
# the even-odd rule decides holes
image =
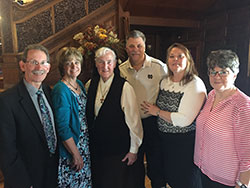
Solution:
[[[234,85],[239,59],[231,50],[207,58],[213,90],[196,122],[194,163],[203,188],[246,188],[250,181],[250,98]]]

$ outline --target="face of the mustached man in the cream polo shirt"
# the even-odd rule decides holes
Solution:
[[[126,42],[126,51],[132,64],[141,63],[145,58],[145,43],[141,37],[129,38]]]

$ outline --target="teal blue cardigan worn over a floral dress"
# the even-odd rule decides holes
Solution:
[[[77,80],[82,91],[86,94],[84,86]],[[61,80],[52,90],[52,103],[55,113],[57,134],[59,136],[59,153],[61,157],[71,159],[71,154],[64,147],[62,141],[73,137],[76,145],[80,136],[79,106],[71,90]]]

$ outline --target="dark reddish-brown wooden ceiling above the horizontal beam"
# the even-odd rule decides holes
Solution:
[[[121,0],[131,16],[199,19],[217,0]]]

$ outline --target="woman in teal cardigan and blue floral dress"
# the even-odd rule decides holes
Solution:
[[[73,47],[57,56],[62,79],[52,91],[59,135],[59,187],[91,188],[89,136],[86,124],[86,91],[80,80],[82,55]]]

